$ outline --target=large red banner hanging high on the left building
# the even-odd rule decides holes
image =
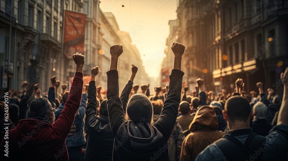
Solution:
[[[65,11],[63,49],[67,58],[76,52],[84,55],[86,14]]]

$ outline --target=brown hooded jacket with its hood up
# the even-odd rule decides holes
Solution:
[[[202,106],[190,124],[190,133],[185,137],[180,154],[180,161],[195,160],[197,155],[208,145],[224,134],[217,130],[218,120],[213,108]]]

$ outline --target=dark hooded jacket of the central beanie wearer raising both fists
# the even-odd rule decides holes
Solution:
[[[170,88],[159,119],[153,124],[126,121],[119,98],[118,71],[107,72],[109,122],[115,138],[114,160],[169,160],[167,140],[174,128],[181,99],[181,70],[173,69]],[[172,88],[173,87],[173,88]],[[143,118],[145,119],[145,118]]]

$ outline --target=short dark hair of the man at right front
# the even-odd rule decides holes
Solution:
[[[241,96],[232,96],[227,99],[224,110],[231,121],[246,121],[251,113],[249,101]]]

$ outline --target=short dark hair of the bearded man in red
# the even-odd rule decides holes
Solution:
[[[48,113],[52,106],[49,100],[45,97],[33,99],[29,105],[30,117],[44,117],[48,118]]]

